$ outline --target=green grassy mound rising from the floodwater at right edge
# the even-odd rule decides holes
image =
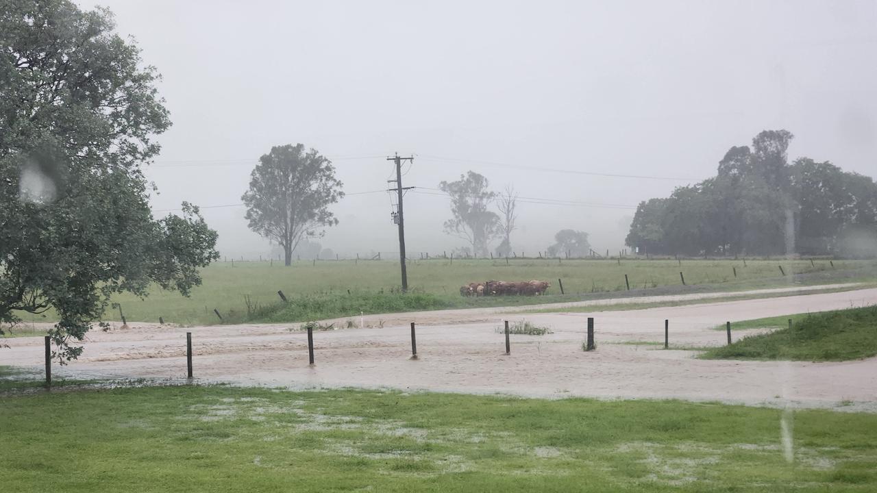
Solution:
[[[788,328],[792,318],[792,328]],[[713,360],[849,361],[877,355],[877,306],[761,318],[733,327],[781,327],[701,355]]]

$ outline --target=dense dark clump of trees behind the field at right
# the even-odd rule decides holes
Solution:
[[[788,164],[786,130],[734,146],[718,173],[639,204],[625,240],[639,254],[877,254],[877,185],[829,161]]]

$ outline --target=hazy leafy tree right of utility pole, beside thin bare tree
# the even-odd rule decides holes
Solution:
[[[488,190],[488,179],[474,171],[460,175],[456,182],[441,182],[439,189],[451,197],[453,218],[445,221],[445,232],[466,239],[472,254],[487,256],[488,241],[496,236],[500,221],[488,209],[496,192]]]

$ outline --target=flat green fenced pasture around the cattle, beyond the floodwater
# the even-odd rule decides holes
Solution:
[[[783,276],[779,266],[786,272]],[[737,269],[734,277],[733,269]],[[687,286],[681,285],[683,272]],[[189,298],[179,293],[153,290],[149,297],[122,295],[121,304],[130,321],[166,322],[182,325],[215,324],[217,309],[226,322],[300,322],[309,319],[352,317],[361,312],[440,310],[479,306],[553,303],[599,297],[678,294],[716,290],[784,287],[792,284],[830,282],[877,282],[877,261],[747,260],[713,261],[623,259],[615,260],[430,260],[411,261],[410,288],[414,297],[399,296],[398,263],[395,261],[310,261],[287,268],[268,262],[217,262],[203,269],[203,285]],[[627,291],[624,275],[631,291]],[[565,296],[560,296],[558,279]],[[552,287],[545,297],[460,297],[467,282],[546,280]],[[280,304],[277,290],[289,297]],[[348,290],[350,291],[348,293]],[[248,313],[245,297],[249,297]],[[52,320],[23,314],[26,322]],[[118,310],[108,309],[108,320],[120,320]]]

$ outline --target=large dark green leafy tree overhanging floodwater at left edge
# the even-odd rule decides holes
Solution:
[[[0,333],[53,310],[62,363],[113,293],[188,295],[218,256],[196,207],[153,218],[141,168],[168,111],[155,69],[113,29],[109,11],[67,0],[0,11]]]

